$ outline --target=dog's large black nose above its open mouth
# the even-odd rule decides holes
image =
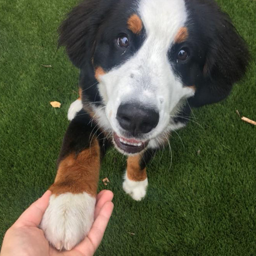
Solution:
[[[120,105],[116,118],[121,127],[133,136],[152,131],[159,122],[159,113],[135,104]]]

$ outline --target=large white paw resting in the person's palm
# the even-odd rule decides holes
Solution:
[[[96,199],[87,193],[51,195],[40,227],[58,250],[71,250],[88,234]]]

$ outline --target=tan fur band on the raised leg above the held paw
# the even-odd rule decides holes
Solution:
[[[60,162],[55,182],[49,189],[55,195],[86,192],[96,197],[99,170],[100,146],[94,139],[90,148],[78,155],[71,153]]]

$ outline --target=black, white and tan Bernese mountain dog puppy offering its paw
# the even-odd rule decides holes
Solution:
[[[246,72],[246,43],[213,0],[86,0],[59,29],[80,69],[41,228],[70,250],[93,223],[100,161],[128,155],[123,189],[146,195],[146,164],[192,107],[225,99]]]

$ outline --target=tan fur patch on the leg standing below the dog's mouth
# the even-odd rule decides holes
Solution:
[[[127,158],[127,177],[132,181],[143,181],[147,178],[146,168],[140,167],[141,155]]]

